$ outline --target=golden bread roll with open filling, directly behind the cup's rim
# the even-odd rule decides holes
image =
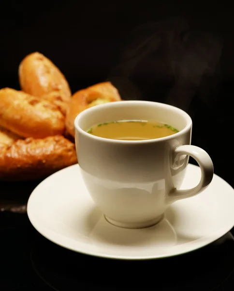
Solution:
[[[77,91],[67,107],[66,130],[74,136],[75,117],[83,110],[102,103],[120,101],[117,89],[110,82],[103,82]]]

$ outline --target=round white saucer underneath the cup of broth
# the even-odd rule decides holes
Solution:
[[[200,169],[188,165],[182,188],[195,186]],[[170,206],[156,226],[125,229],[109,224],[83,183],[78,164],[46,178],[29,197],[32,225],[70,250],[113,259],[156,259],[190,252],[234,226],[234,189],[214,176],[201,194]]]

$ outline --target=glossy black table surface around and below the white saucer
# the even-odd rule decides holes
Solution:
[[[37,183],[1,183],[0,290],[234,290],[234,229],[167,259],[91,257],[50,242],[30,224],[25,206]]]

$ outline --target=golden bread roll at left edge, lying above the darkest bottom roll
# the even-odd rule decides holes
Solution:
[[[49,101],[10,88],[0,90],[0,126],[23,137],[44,138],[63,134],[64,122]]]

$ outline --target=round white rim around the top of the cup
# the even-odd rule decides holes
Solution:
[[[117,106],[119,103],[123,103],[123,102],[126,104],[126,106],[131,105],[131,104],[147,104],[147,105],[151,104],[151,105],[158,105],[158,106],[161,106],[164,108],[165,107],[171,108],[171,109],[177,111],[178,113],[183,114],[183,116],[185,117],[185,119],[187,121],[187,125],[184,129],[182,129],[179,132],[176,132],[172,135],[169,135],[169,136],[154,138],[154,139],[147,139],[147,140],[138,140],[138,141],[109,139],[109,138],[104,138],[104,137],[92,135],[79,126],[80,120],[82,118],[84,118],[84,116],[87,113],[94,112],[96,110],[106,108],[106,107],[108,108],[108,107],[112,107],[112,106]],[[190,130],[191,126],[192,126],[192,120],[191,120],[190,115],[188,113],[186,113],[185,111],[183,111],[182,109],[175,107],[173,105],[165,104],[165,103],[154,102],[154,101],[145,101],[145,100],[121,100],[121,101],[108,102],[108,103],[104,103],[104,104],[95,105],[95,106],[87,108],[84,111],[82,111],[81,113],[79,113],[75,117],[75,120],[74,120],[75,130],[77,130],[81,134],[84,134],[86,137],[88,137],[92,140],[100,141],[100,142],[122,144],[122,145],[151,144],[151,143],[156,143],[156,142],[158,143],[158,142],[162,142],[162,141],[171,140],[171,139],[174,139],[176,137],[180,137],[181,135],[186,133],[188,130]]]

